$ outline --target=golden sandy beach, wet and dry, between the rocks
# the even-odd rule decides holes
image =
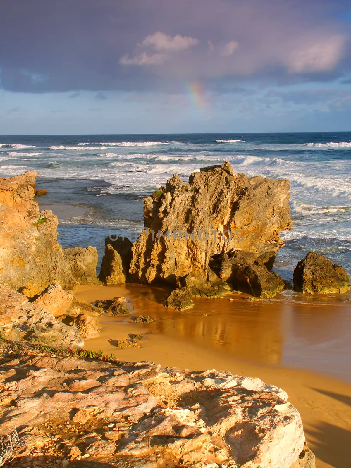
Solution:
[[[80,286],[76,295],[88,302],[124,296],[132,303],[131,317],[155,319],[135,324],[130,317],[103,315],[101,336],[86,341],[86,349],[126,361],[216,368],[284,388],[300,411],[317,468],[350,466],[350,305],[249,302],[231,295],[198,299],[193,309],[173,312],[161,305],[167,295],[161,288]],[[140,349],[116,347],[135,333],[146,337]]]

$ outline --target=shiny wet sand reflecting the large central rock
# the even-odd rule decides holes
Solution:
[[[195,307],[176,312],[162,305],[168,293],[162,288],[131,284],[82,286],[79,292],[91,302],[127,297],[133,304],[132,316],[148,314],[155,319],[147,325],[154,334],[266,365],[307,367],[351,380],[349,305],[251,302],[243,295],[230,295],[195,299]],[[111,324],[121,321],[125,322],[125,318],[110,319]]]

